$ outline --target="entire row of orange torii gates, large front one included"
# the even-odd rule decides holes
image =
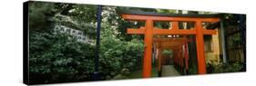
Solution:
[[[189,69],[189,55],[188,43],[191,39],[184,38],[153,38],[153,35],[195,35],[197,46],[197,59],[198,59],[198,73],[206,73],[206,62],[204,53],[204,38],[205,34],[216,34],[216,30],[208,30],[202,27],[202,23],[217,23],[220,18],[211,15],[189,15],[189,14],[174,14],[174,15],[160,15],[160,14],[121,14],[122,18],[128,21],[145,21],[145,26],[136,28],[128,28],[128,34],[144,34],[144,58],[143,58],[143,78],[148,78],[152,70],[152,48],[153,43],[157,45],[157,49],[174,50],[173,61],[185,66],[186,70]],[[156,28],[153,26],[154,22],[171,22],[172,28]],[[179,22],[194,22],[194,29],[179,29]],[[182,48],[182,46],[184,48]],[[159,70],[161,70],[161,55],[158,55]]]

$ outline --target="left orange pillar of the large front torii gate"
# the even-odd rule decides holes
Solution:
[[[152,62],[152,42],[153,42],[153,20],[146,20],[145,26],[145,52],[143,58],[143,78],[149,78],[151,75]]]

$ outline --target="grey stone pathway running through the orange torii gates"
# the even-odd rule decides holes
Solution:
[[[176,71],[173,65],[163,65],[162,76],[180,76],[180,74]]]

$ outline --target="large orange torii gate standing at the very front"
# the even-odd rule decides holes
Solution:
[[[216,15],[191,15],[191,14],[139,14],[139,13],[121,13],[125,20],[145,21],[145,27],[139,29],[129,28],[129,34],[144,34],[145,52],[143,58],[143,77],[148,78],[151,75],[151,54],[153,34],[194,34],[196,35],[197,54],[199,74],[206,73],[206,63],[204,56],[204,34],[215,34],[215,30],[206,30],[202,28],[203,22],[215,23],[219,22],[220,18]],[[158,29],[153,26],[154,22],[166,21],[172,22],[172,29]],[[194,22],[194,29],[179,29],[179,22]]]

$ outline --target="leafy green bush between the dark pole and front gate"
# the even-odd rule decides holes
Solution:
[[[123,69],[128,72],[140,65],[143,55],[142,41],[132,40],[124,42],[115,35],[115,30],[103,28],[100,42],[100,71],[109,77],[122,73]]]

